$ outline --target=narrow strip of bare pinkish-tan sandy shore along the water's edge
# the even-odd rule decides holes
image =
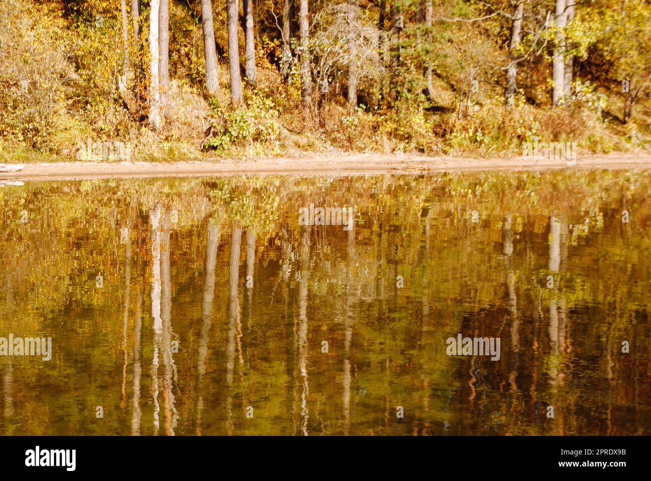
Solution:
[[[426,173],[428,171],[542,170],[542,169],[651,169],[651,153],[579,156],[574,166],[561,161],[533,163],[522,157],[457,158],[420,155],[346,154],[219,162],[55,162],[25,164],[18,172],[0,173],[0,179],[23,181],[100,179],[116,177],[201,177],[243,174]]]

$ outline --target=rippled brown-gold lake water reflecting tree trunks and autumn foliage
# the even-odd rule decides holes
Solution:
[[[7,184],[0,433],[649,434],[650,180]]]

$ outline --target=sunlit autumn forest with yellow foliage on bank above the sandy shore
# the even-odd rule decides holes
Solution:
[[[3,0],[0,162],[125,160],[106,143],[164,161],[648,151],[650,14],[648,0]]]

